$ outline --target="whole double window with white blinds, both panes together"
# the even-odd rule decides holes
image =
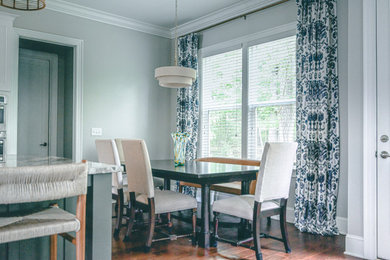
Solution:
[[[202,58],[202,157],[260,159],[265,142],[295,140],[295,36],[243,46]]]

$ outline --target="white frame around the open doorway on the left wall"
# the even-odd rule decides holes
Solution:
[[[66,36],[15,28],[19,39],[35,40],[73,48],[73,151],[72,160],[83,159],[83,57],[84,41]]]

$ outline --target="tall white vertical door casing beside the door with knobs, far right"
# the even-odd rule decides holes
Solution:
[[[363,255],[377,257],[376,1],[363,1]],[[360,250],[362,248],[354,248]],[[356,253],[348,249],[349,252]]]

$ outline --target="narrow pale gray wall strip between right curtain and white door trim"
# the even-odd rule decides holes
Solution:
[[[344,1],[344,0],[343,0]],[[363,1],[348,1],[348,234],[363,236]],[[350,251],[347,248],[346,251]]]

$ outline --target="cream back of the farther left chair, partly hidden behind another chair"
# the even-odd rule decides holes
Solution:
[[[98,160],[101,163],[114,164],[121,167],[118,149],[114,140],[100,139],[95,141]],[[112,186],[121,189],[123,187],[122,172],[112,174]]]

